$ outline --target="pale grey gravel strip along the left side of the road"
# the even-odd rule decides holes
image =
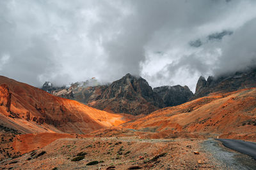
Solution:
[[[256,169],[256,160],[243,153],[230,150],[220,141],[207,139],[202,143],[202,149],[216,160],[216,167],[220,169]]]

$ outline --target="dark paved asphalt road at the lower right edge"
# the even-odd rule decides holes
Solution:
[[[235,140],[235,139],[216,139],[216,140],[221,141],[221,143],[227,148],[249,155],[256,160],[256,143]]]

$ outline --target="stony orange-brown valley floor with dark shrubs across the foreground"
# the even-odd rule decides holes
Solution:
[[[95,165],[86,165],[90,162]],[[253,169],[253,166],[255,160],[223,147],[214,139],[136,136],[61,138],[0,162],[0,169]]]

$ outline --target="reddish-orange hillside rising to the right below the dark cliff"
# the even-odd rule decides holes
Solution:
[[[166,136],[196,134],[256,141],[256,88],[211,94],[179,106],[157,110],[125,127]]]

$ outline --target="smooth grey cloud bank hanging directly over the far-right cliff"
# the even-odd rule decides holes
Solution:
[[[223,57],[218,60],[218,67],[214,69],[216,75],[256,66],[255,30],[256,18],[244,24],[225,41]]]

